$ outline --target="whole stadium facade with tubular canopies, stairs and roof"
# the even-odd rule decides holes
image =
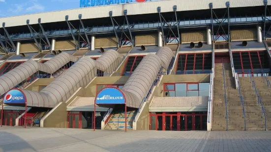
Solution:
[[[91,2],[0,18],[1,125],[271,128],[270,0]]]

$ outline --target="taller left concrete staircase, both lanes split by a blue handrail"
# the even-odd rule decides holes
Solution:
[[[228,130],[244,130],[243,106],[239,90],[235,88],[230,63],[224,63],[224,79],[226,86]],[[222,63],[215,64],[212,130],[226,130],[225,89]]]

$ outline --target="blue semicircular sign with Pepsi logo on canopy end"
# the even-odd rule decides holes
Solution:
[[[8,91],[4,96],[4,103],[26,103],[24,94],[17,89]]]

